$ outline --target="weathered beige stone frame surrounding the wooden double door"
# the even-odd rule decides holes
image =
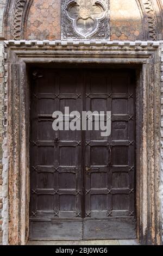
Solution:
[[[3,243],[24,245],[29,233],[29,76],[33,64],[137,67],[136,210],[141,244],[161,243],[159,42],[5,41]],[[36,74],[37,75],[37,74]],[[39,74],[38,74],[39,75]]]

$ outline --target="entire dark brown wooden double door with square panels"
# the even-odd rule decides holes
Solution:
[[[32,80],[30,239],[134,239],[134,72],[40,69]],[[111,135],[54,131],[65,106],[111,111]]]

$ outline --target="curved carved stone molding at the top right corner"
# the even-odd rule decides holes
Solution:
[[[158,31],[157,31],[157,18],[154,10],[154,5],[152,0],[142,0],[144,5],[145,14],[147,16],[148,22],[148,35],[147,40],[157,40],[158,39]]]

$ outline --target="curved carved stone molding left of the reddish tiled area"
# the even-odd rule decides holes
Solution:
[[[15,2],[14,14],[12,18],[12,39],[20,40],[22,33],[22,17],[27,0],[17,0]]]

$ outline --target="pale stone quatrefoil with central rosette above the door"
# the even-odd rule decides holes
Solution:
[[[103,4],[96,0],[76,0],[67,5],[66,13],[73,21],[73,26],[79,35],[92,35],[98,29],[99,20],[105,17]]]

